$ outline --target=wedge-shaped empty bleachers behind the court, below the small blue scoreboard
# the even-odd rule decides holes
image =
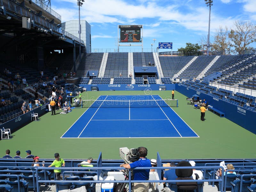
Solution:
[[[187,65],[191,59],[193,59],[193,56],[159,57],[164,77],[173,77],[185,65]]]

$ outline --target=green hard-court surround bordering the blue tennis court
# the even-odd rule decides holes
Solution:
[[[100,91],[83,92],[82,99],[95,100],[100,95],[145,94],[160,95],[163,99],[170,99],[172,96],[171,91]],[[20,156],[25,157],[25,151],[29,149],[33,155],[41,158],[53,158],[56,152],[65,159],[85,159],[89,156],[98,158],[101,151],[103,159],[120,159],[119,147],[144,146],[148,148],[148,158],[156,158],[157,151],[163,159],[256,158],[251,149],[251,146],[256,144],[255,134],[210,111],[205,113],[206,120],[200,121],[200,110],[187,105],[186,96],[175,92],[175,99],[179,100],[179,107],[173,107],[173,110],[199,135],[199,138],[60,139],[87,109],[77,107],[68,114],[59,114],[61,110],[58,110],[57,115],[51,116],[49,112],[41,116],[39,121],[33,121],[14,132],[12,139],[1,140],[2,156],[5,155],[6,149],[10,149],[11,156],[15,156],[15,152],[20,150]],[[129,128],[120,127],[120,132],[128,131]],[[157,132],[157,127],[155,131]]]

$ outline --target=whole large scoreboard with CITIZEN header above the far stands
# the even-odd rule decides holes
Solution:
[[[141,42],[140,30],[142,25],[119,25],[118,28],[120,28],[120,43]]]

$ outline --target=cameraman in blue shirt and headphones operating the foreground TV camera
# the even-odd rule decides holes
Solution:
[[[125,169],[133,169],[136,167],[151,167],[150,160],[146,158],[148,150],[145,147],[139,147],[137,150],[139,154],[139,160],[130,164],[121,164],[120,167]],[[133,170],[134,180],[148,180],[149,179],[149,169],[145,170]],[[134,183],[133,192],[148,192],[149,183]]]

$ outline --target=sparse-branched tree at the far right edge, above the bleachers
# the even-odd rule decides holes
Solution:
[[[244,54],[244,51],[251,49],[249,45],[256,40],[256,28],[250,21],[235,21],[234,25],[228,34],[233,42],[231,46],[238,54]]]

